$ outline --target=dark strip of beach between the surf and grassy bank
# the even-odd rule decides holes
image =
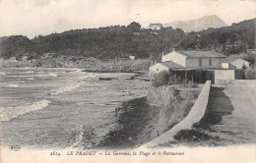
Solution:
[[[158,124],[160,107],[149,105],[147,96],[123,102],[115,109],[118,127],[107,134],[96,149],[136,148],[158,135],[155,127]]]

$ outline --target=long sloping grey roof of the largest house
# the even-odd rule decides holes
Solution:
[[[223,54],[215,51],[177,51],[187,58],[225,58]]]

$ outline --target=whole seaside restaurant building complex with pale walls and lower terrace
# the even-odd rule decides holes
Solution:
[[[215,51],[175,51],[162,55],[161,62],[150,67],[150,75],[170,71],[183,80],[213,82],[241,79],[237,67],[241,60],[224,63],[225,56]]]

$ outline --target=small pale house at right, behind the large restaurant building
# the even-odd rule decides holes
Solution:
[[[243,66],[249,68],[250,63],[241,58],[226,58],[222,62],[223,69],[242,69]]]

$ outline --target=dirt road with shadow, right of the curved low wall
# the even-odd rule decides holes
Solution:
[[[256,81],[213,85],[203,121],[163,146],[216,146],[256,142]]]

